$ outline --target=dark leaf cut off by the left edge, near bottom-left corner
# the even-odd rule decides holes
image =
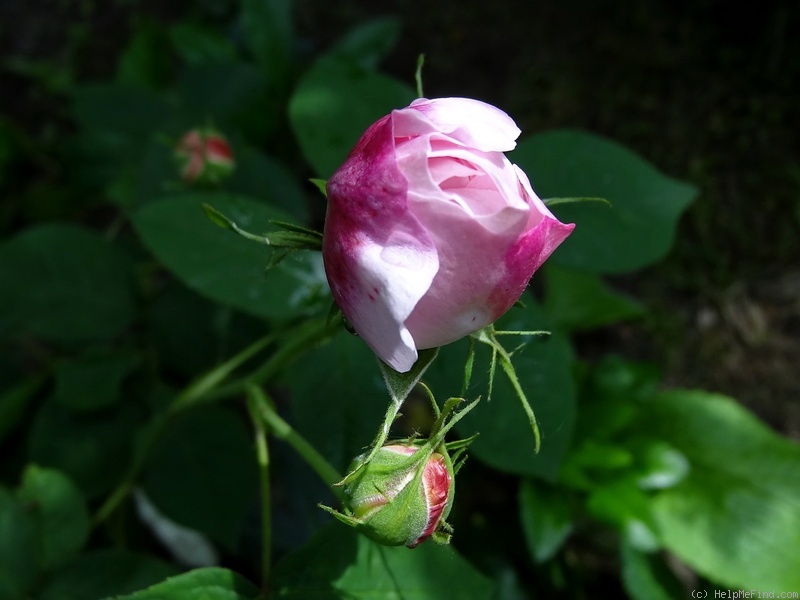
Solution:
[[[38,574],[36,523],[14,496],[0,487],[0,593],[23,600]]]

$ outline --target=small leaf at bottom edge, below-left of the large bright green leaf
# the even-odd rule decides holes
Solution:
[[[623,543],[622,582],[631,600],[684,598],[686,590],[658,554],[640,552]]]

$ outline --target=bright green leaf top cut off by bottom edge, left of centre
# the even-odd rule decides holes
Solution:
[[[209,567],[107,600],[255,600],[257,596],[258,589],[241,575],[228,569]]]

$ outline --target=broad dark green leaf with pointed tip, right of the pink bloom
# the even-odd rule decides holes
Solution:
[[[542,198],[608,198],[554,207],[577,226],[550,263],[592,273],[625,273],[661,259],[672,246],[678,217],[697,195],[659,173],[627,148],[580,131],[524,139],[511,155]]]

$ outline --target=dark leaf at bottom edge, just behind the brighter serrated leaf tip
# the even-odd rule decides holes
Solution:
[[[94,550],[56,570],[38,600],[94,600],[130,594],[175,575],[177,569],[130,550]]]

